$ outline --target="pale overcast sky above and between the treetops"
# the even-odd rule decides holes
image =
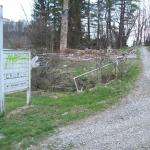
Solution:
[[[32,14],[32,7],[33,7],[34,0],[0,0],[0,5],[3,5],[4,10],[4,18],[8,18],[11,20],[26,20],[25,14],[23,13],[22,7],[23,6],[28,20],[31,19]],[[92,0],[95,1],[95,0]],[[143,3],[147,1],[146,6],[150,7],[149,0],[141,0]]]

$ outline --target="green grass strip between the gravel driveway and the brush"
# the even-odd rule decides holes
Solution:
[[[129,61],[128,72],[120,80],[111,81],[92,91],[72,93],[57,99],[32,96],[33,108],[9,117],[9,112],[23,106],[25,101],[23,93],[7,96],[6,114],[0,118],[0,136],[4,136],[0,139],[0,149],[16,149],[18,143],[25,149],[61,125],[108,108],[129,91],[139,73],[140,61]]]

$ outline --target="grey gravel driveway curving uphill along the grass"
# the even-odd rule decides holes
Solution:
[[[77,121],[31,150],[150,150],[150,54],[141,48],[143,73],[120,104]]]

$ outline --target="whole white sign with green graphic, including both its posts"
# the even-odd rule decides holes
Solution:
[[[5,111],[5,94],[26,91],[31,96],[31,53],[3,49],[3,6],[0,5],[0,113]]]

